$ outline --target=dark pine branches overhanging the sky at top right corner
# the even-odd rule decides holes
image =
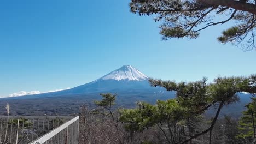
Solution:
[[[240,45],[245,50],[256,48],[256,5],[253,0],[132,0],[130,8],[132,13],[141,16],[155,15],[155,21],[161,22],[160,34],[164,40],[197,38],[203,29],[232,21],[235,26],[223,31],[218,40]]]

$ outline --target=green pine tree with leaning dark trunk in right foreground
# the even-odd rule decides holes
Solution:
[[[168,143],[187,143],[213,130],[220,110],[225,105],[238,101],[238,92],[256,93],[255,75],[248,77],[218,77],[207,84],[203,78],[196,82],[149,80],[152,86],[167,91],[176,91],[176,98],[158,100],[155,105],[138,103],[136,109],[120,110],[119,121],[130,131],[143,131],[157,125],[165,134]],[[216,109],[216,114],[205,129],[203,113]],[[188,137],[188,138],[187,138]],[[211,137],[211,133],[210,133]],[[211,140],[211,138],[210,138]]]

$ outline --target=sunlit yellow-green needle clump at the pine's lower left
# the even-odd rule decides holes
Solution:
[[[184,119],[184,109],[180,107],[176,100],[156,102],[156,105],[139,103],[138,109],[121,110],[120,121],[131,123],[126,125],[126,129],[142,131],[160,122],[177,123]]]

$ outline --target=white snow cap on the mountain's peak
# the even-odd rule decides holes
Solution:
[[[141,71],[137,70],[131,65],[124,65],[123,67],[112,71],[111,73],[101,77],[98,80],[143,81],[148,80],[148,78],[148,76],[144,75],[143,73],[141,73]]]

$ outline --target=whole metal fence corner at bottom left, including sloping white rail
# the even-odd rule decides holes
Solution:
[[[0,117],[0,144],[78,143],[79,117]]]

